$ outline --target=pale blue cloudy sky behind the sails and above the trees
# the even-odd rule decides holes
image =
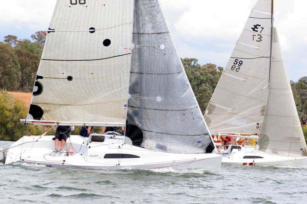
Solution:
[[[64,1],[64,0],[63,0]],[[107,0],[101,0],[107,1]],[[0,0],[0,41],[47,30],[56,0]],[[256,0],[160,0],[181,58],[225,67]],[[306,0],[275,0],[274,19],[288,76],[307,76]]]

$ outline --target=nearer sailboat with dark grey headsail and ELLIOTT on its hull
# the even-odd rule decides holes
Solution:
[[[220,155],[196,102],[157,0],[56,2],[25,124],[126,126],[70,135],[24,136],[5,164],[74,169],[202,168]]]

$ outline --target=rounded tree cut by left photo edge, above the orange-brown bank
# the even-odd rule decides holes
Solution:
[[[13,47],[0,42],[0,88],[18,90],[20,67]]]

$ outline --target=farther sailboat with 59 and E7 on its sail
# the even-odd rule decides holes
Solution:
[[[273,1],[258,0],[251,9],[204,117],[212,134],[259,134],[254,147],[230,145],[222,150],[222,163],[307,166]]]

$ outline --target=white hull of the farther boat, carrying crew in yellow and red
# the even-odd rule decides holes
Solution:
[[[240,149],[232,149],[239,147]],[[261,152],[255,146],[230,145],[221,150],[223,164],[307,167],[307,157],[282,157]]]

